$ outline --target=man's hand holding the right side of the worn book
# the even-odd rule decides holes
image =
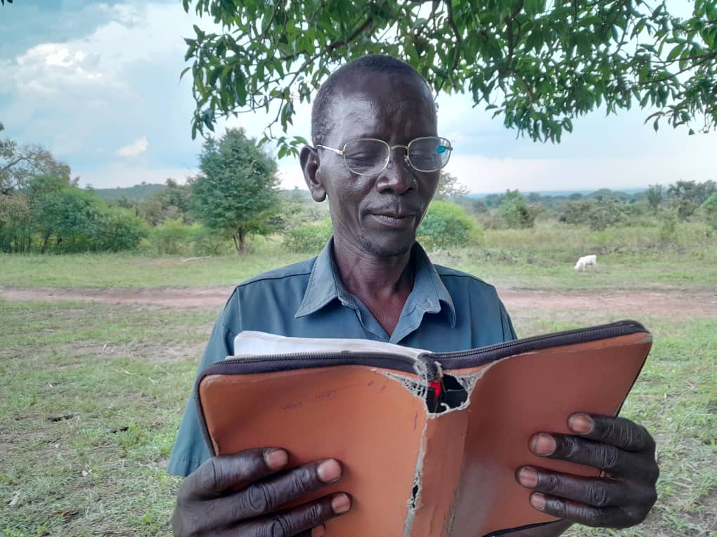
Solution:
[[[568,425],[576,435],[540,432],[533,453],[602,470],[597,478],[523,466],[516,478],[536,490],[530,496],[538,511],[586,526],[627,528],[645,520],[657,499],[655,441],[645,427],[623,417],[573,414]]]

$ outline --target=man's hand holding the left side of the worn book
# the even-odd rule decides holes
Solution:
[[[281,505],[341,479],[333,459],[277,473],[288,454],[255,448],[207,460],[187,476],[172,516],[175,536],[323,536],[323,523],[351,508],[337,493],[276,511]]]

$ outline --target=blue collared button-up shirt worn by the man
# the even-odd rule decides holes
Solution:
[[[265,272],[237,286],[214,325],[199,370],[234,354],[234,337],[242,330],[374,339],[434,352],[516,339],[495,287],[432,264],[418,243],[411,255],[413,291],[389,336],[361,300],[341,284],[332,251],[329,240],[318,257]],[[189,475],[210,456],[190,397],[168,470]]]

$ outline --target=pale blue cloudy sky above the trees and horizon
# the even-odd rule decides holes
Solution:
[[[675,6],[686,2],[675,1]],[[673,4],[670,3],[670,8]],[[179,80],[193,24],[181,1],[16,0],[0,6],[0,137],[43,145],[80,185],[180,182],[198,172],[194,100]],[[688,136],[643,124],[630,110],[574,120],[561,143],[517,137],[467,95],[439,95],[439,134],[455,150],[447,171],[475,193],[643,188],[717,179],[717,133]],[[297,105],[290,135],[310,137],[310,108]],[[260,137],[265,115],[220,121]],[[279,161],[284,188],[305,188],[298,160]]]

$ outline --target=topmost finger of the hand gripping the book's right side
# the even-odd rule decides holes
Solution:
[[[655,440],[647,429],[624,417],[578,412],[568,418],[568,426],[584,438],[606,442],[625,451],[655,451]]]

